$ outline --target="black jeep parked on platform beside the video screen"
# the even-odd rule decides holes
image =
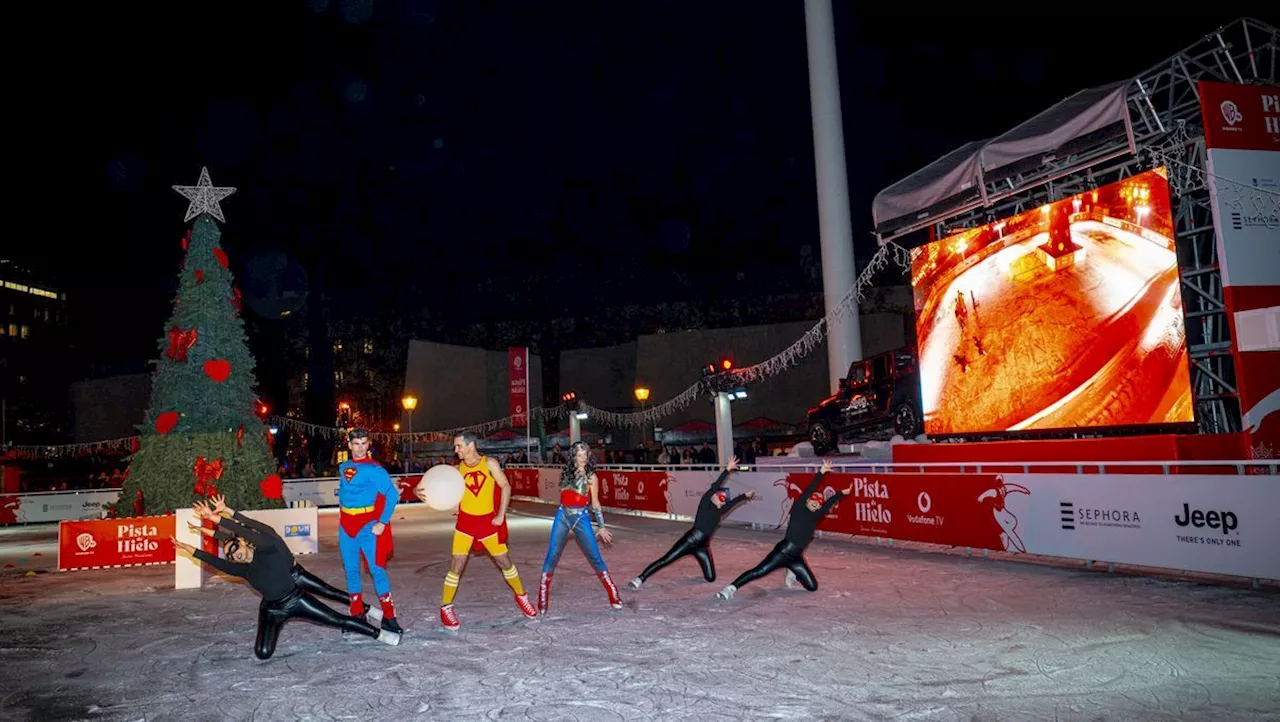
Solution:
[[[824,454],[854,431],[892,426],[910,439],[922,430],[920,373],[905,348],[854,361],[840,390],[809,410],[809,440]]]

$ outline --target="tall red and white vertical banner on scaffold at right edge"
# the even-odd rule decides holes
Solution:
[[[1244,430],[1280,449],[1280,87],[1198,83]]]

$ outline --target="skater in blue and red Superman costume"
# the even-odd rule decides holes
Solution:
[[[351,458],[338,466],[338,550],[342,567],[347,572],[347,594],[351,616],[369,613],[371,621],[381,617],[387,631],[401,634],[392,603],[392,582],[387,577],[387,559],[392,556],[392,515],[399,489],[380,463],[369,456],[369,431],[352,429],[347,433]],[[365,606],[360,590],[360,559],[369,565],[374,577],[374,591],[381,609]]]

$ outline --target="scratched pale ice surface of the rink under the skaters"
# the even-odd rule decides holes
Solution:
[[[530,590],[552,511],[521,503],[512,517]],[[1272,588],[819,539],[808,554],[817,593],[774,574],[719,602],[778,534],[726,527],[716,584],[682,559],[625,589],[620,612],[571,543],[538,622],[521,620],[500,575],[475,557],[451,635],[438,608],[453,520],[420,506],[397,517],[403,643],[291,622],[266,662],[252,654],[257,597],[239,584],[177,591],[170,566],[58,574],[51,526],[0,531],[0,562],[14,565],[0,575],[0,718],[1277,718]],[[320,518],[321,553],[301,561],[342,586],[337,517]],[[611,518],[605,559],[620,586],[685,529]]]

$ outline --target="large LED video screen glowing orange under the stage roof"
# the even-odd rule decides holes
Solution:
[[[911,251],[932,435],[1194,421],[1157,168]]]

